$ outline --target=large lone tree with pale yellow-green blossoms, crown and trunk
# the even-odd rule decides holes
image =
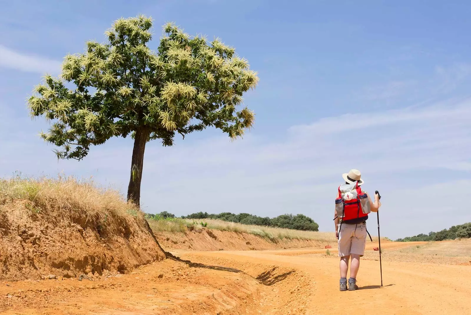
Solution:
[[[164,26],[154,53],[147,47],[151,27],[145,16],[115,21],[106,43],[89,41],[85,53],[65,56],[60,79],[47,75],[28,100],[33,117],[53,121],[41,137],[61,147],[59,159],[81,160],[91,145],[130,135],[128,200],[137,205],[146,143],[173,145],[177,133],[206,127],[242,137],[254,113],[237,108],[258,82],[234,48],[190,37],[174,24]]]

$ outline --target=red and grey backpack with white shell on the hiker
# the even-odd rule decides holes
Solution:
[[[342,223],[350,220],[368,218],[371,212],[368,195],[361,191],[358,182],[339,186],[339,196],[335,199],[335,211],[342,218]]]

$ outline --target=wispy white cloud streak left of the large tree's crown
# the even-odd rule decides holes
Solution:
[[[57,74],[61,62],[32,54],[24,54],[0,45],[0,67],[32,73]]]

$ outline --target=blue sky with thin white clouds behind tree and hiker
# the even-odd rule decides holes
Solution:
[[[119,17],[220,37],[258,71],[244,97],[256,126],[233,143],[205,130],[146,147],[147,212],[303,213],[333,230],[341,173],[382,194],[382,234],[471,221],[469,1],[14,1],[0,11],[0,175],[92,176],[125,192],[130,139],[57,161],[25,99],[67,53],[104,41]],[[375,215],[370,229],[374,230]]]

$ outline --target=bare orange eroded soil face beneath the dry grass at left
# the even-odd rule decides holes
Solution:
[[[0,279],[128,273],[165,258],[136,213],[94,219],[33,210],[21,201],[0,205]]]

